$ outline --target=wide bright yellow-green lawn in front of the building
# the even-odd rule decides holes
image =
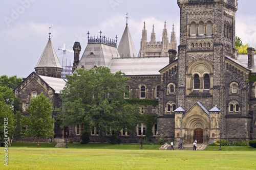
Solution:
[[[68,147],[13,143],[8,148],[8,168],[1,161],[0,169],[256,169],[256,149],[251,147],[223,147],[222,151],[219,147],[166,151],[158,150],[159,145],[143,145],[141,150],[137,144],[71,143]],[[2,148],[0,153],[5,153]]]

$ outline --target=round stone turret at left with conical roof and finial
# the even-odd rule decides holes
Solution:
[[[51,27],[50,27],[51,29]],[[62,67],[51,42],[51,33],[44,52],[35,66],[38,75],[61,78]]]

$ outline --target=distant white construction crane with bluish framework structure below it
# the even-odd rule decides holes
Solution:
[[[70,53],[74,53],[72,50],[68,50],[66,48],[66,45],[63,44],[63,47],[58,47],[58,50],[61,50],[63,53],[63,59],[62,59],[62,73],[61,73],[61,78],[62,79],[66,79],[66,75],[71,75],[71,63],[69,62],[68,65],[68,61],[67,61],[67,57],[66,57],[66,52],[70,52]]]

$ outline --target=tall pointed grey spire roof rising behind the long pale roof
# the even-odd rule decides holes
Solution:
[[[132,39],[131,33],[129,31],[128,25],[126,25],[126,27],[124,29],[124,32],[123,32],[122,38],[119,42],[117,50],[118,50],[120,57],[122,57],[122,56],[126,57],[127,55],[129,57],[137,56],[137,53],[136,53],[136,50],[135,50],[135,47],[133,44],[133,39]]]

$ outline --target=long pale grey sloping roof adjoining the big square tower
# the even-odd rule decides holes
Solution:
[[[121,71],[126,76],[161,75],[159,70],[169,64],[169,57],[156,58],[118,58],[113,59],[111,72]]]

